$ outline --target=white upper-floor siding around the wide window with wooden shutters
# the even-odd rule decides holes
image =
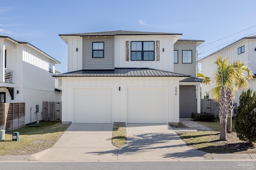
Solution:
[[[126,61],[126,41],[154,41],[155,61]],[[156,41],[160,43],[160,61],[156,61]],[[154,68],[173,72],[173,44],[174,35],[117,35],[114,42],[114,66],[116,68]],[[131,51],[130,46],[129,51]]]

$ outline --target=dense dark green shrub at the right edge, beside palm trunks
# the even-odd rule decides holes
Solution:
[[[239,106],[235,117],[235,129],[237,137],[249,142],[256,142],[256,94],[252,90],[242,91],[239,97]]]

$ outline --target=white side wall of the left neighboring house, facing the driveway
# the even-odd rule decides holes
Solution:
[[[49,72],[49,63],[54,61],[24,45],[22,47],[22,88],[19,90],[21,101],[26,103],[25,123],[37,121],[36,105],[39,105],[38,119],[42,120],[42,101],[61,101],[61,93],[56,92],[55,78]],[[32,107],[32,120],[30,120],[30,107]]]

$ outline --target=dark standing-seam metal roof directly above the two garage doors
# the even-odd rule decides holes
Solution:
[[[186,74],[179,74],[175,72],[156,70],[152,68],[115,68],[114,70],[78,70],[62,74],[56,74],[54,77],[190,77]]]

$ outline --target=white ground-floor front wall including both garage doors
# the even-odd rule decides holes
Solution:
[[[62,97],[66,100],[62,101],[62,121],[178,122],[179,80],[176,77],[63,77]],[[142,95],[134,104],[138,109],[136,114],[140,114],[136,119],[132,102],[138,91]]]

